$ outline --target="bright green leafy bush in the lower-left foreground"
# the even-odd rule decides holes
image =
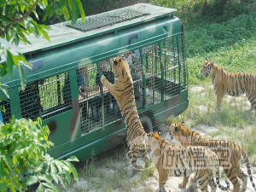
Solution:
[[[53,145],[48,141],[49,128],[40,119],[10,119],[0,127],[0,191],[27,189],[39,183],[38,191],[57,191],[55,183],[65,189],[71,182],[70,174],[78,181],[78,174],[70,161],[54,160],[47,154]]]

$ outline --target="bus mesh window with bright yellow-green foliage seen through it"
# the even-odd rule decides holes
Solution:
[[[43,119],[72,109],[68,73],[49,77],[38,84]]]

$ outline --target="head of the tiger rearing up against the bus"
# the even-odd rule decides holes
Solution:
[[[112,61],[112,71],[116,78],[123,77],[129,73],[129,66],[122,57],[114,57]]]

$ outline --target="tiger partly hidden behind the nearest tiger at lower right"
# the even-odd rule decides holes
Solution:
[[[184,123],[172,124],[169,127],[169,133],[171,138],[175,138],[183,146],[204,146],[211,148],[218,155],[220,166],[223,166],[226,176],[230,179],[233,184],[233,191],[244,192],[247,189],[247,175],[242,172],[240,166],[241,156],[245,160],[247,165],[247,173],[250,181],[253,184],[253,189],[256,190],[255,184],[253,183],[251,166],[248,160],[247,152],[240,145],[229,141],[213,140],[201,137],[197,131],[191,131],[189,128],[184,126]],[[238,177],[242,181],[240,184]],[[185,177],[183,183],[188,181],[189,177]],[[195,181],[195,177],[192,178]],[[185,187],[181,183],[181,187]],[[241,185],[241,190],[240,190]]]

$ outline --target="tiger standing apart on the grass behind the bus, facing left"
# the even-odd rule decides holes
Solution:
[[[241,96],[246,94],[251,103],[250,110],[256,109],[256,75],[253,73],[229,73],[208,60],[201,67],[204,78],[210,76],[217,95],[216,109],[219,110],[224,95]]]

